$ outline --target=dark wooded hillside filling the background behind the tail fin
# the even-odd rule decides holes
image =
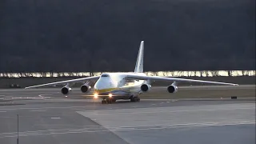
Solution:
[[[255,70],[254,0],[1,0],[0,72]]]

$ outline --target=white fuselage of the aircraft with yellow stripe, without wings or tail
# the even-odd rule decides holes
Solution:
[[[127,80],[126,74],[146,75],[143,73],[104,73],[94,85],[94,93],[99,96],[113,94],[119,97],[130,97],[140,94],[144,80]]]

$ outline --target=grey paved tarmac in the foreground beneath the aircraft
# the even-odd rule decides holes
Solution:
[[[20,144],[255,143],[254,99],[102,105],[77,95],[66,98],[55,89],[0,90],[0,143],[16,143],[17,138]]]

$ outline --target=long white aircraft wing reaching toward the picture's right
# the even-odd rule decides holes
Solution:
[[[186,79],[186,78],[167,78],[167,77],[159,77],[159,76],[127,75],[126,78],[132,78],[132,79],[138,79],[138,80],[150,80],[150,81],[202,82],[202,83],[211,83],[211,84],[222,84],[222,85],[238,86],[238,84],[234,84],[234,83],[202,81],[202,80]]]

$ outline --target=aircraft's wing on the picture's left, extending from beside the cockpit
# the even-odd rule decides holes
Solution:
[[[28,87],[25,87],[25,89],[30,89],[30,88],[34,88],[34,87],[41,87],[41,86],[54,86],[54,85],[65,84],[65,83],[85,82],[85,81],[90,81],[90,80],[96,80],[99,77],[100,76],[94,76],[94,77],[87,77],[87,78],[71,79],[71,80],[60,81],[60,82],[51,82],[51,83],[46,83],[46,84],[37,85],[37,86],[28,86]]]

